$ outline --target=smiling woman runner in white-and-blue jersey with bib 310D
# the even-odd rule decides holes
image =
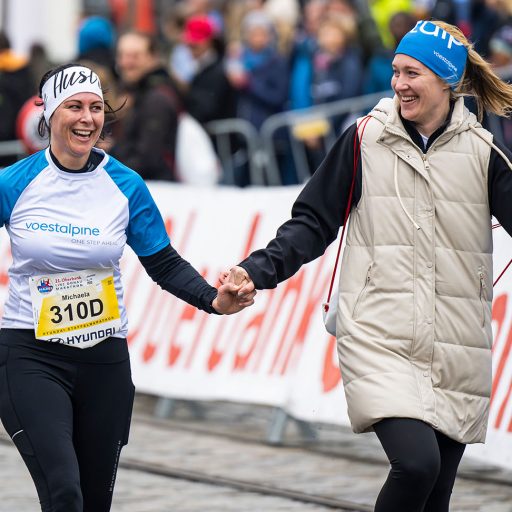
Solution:
[[[49,147],[0,172],[13,264],[0,331],[0,418],[43,512],[110,510],[134,388],[119,260],[128,244],[163,289],[208,313],[253,303],[218,290],[170,245],[142,178],[94,148],[98,76],[69,64],[41,80]],[[84,349],[84,350],[80,350]]]

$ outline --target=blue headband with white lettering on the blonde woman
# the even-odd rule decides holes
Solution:
[[[462,78],[468,56],[460,41],[430,21],[418,21],[400,41],[397,53],[420,61],[452,89]]]

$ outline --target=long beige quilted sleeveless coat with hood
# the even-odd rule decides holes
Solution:
[[[370,113],[362,195],[349,221],[337,341],[355,432],[422,420],[485,440],[491,390],[492,135],[458,99],[428,151],[394,100]]]

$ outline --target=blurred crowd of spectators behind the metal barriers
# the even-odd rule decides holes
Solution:
[[[511,0],[174,0],[155,6],[150,30],[123,25],[115,9],[86,9],[75,59],[95,69],[118,109],[101,145],[147,180],[193,183],[186,160],[215,142],[201,128],[212,121],[237,118],[259,130],[273,114],[388,91],[394,49],[418,19],[458,25],[494,66],[512,63]],[[36,77],[52,64],[58,63],[49,62],[41,44],[25,58],[0,33],[0,140],[27,138],[28,116],[20,113],[34,104]],[[180,137],[185,117],[196,123]],[[347,120],[331,122],[339,135]],[[511,131],[505,121],[505,142],[512,142]],[[296,184],[289,137],[278,135],[280,181]],[[325,154],[321,134],[313,130],[300,139],[314,169]],[[37,149],[25,142],[29,151]],[[232,134],[230,145],[241,151],[243,142]],[[0,157],[2,166],[11,162]],[[210,167],[210,182],[222,183],[222,172]],[[246,163],[235,166],[233,181],[251,183]]]

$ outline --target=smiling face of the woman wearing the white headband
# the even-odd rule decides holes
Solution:
[[[81,169],[96,144],[105,121],[103,100],[81,92],[64,100],[50,119],[50,145],[68,169]]]

